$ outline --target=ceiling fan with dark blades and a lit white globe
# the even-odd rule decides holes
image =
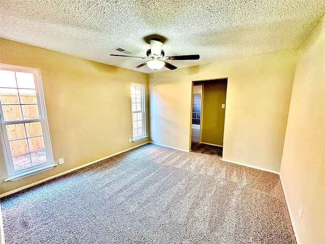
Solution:
[[[177,69],[176,66],[168,63],[167,61],[172,60],[197,60],[200,58],[199,54],[193,55],[178,55],[178,56],[165,56],[165,51],[161,49],[163,43],[158,38],[153,38],[150,40],[150,49],[147,50],[147,56],[132,56],[132,55],[118,55],[118,54],[110,54],[111,56],[119,56],[119,57],[137,57],[147,60],[145,63],[142,63],[138,66],[133,67],[134,69],[138,69],[142,66],[147,65],[152,70],[160,70],[163,67],[166,67],[170,70]]]

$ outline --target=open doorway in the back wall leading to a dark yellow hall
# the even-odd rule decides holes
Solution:
[[[223,147],[227,83],[227,78],[193,81],[191,149]]]

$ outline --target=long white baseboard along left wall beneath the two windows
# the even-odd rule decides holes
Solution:
[[[86,167],[86,166],[88,166],[88,165],[91,165],[91,164],[97,163],[97,162],[102,161],[102,160],[104,160],[104,159],[111,158],[111,157],[113,157],[113,156],[115,156],[115,155],[118,155],[118,154],[124,153],[125,151],[132,150],[132,149],[134,149],[134,148],[137,148],[137,147],[139,147],[139,146],[143,146],[143,145],[148,144],[148,143],[150,143],[150,141],[147,141],[147,142],[142,143],[142,144],[137,145],[137,146],[133,146],[133,147],[127,148],[127,149],[125,149],[125,150],[119,151],[118,153],[112,154],[112,155],[107,156],[107,157],[104,157],[104,158],[102,158],[102,159],[98,159],[98,160],[92,161],[92,162],[90,162],[90,163],[83,164],[83,165],[78,166],[78,167],[76,167],[76,168],[69,169],[69,170],[67,170],[67,171],[64,171],[64,172],[62,172],[62,173],[59,173],[59,174],[56,174],[56,175],[50,176],[50,177],[48,177],[48,178],[45,178],[45,179],[42,179],[42,180],[39,180],[39,181],[33,182],[33,183],[29,184],[29,185],[26,185],[26,186],[23,186],[23,187],[17,188],[17,189],[15,189],[15,190],[12,190],[12,191],[9,191],[9,192],[6,192],[6,193],[3,193],[3,194],[0,195],[0,198],[2,198],[2,197],[6,197],[6,196],[9,196],[9,195],[11,195],[11,194],[14,194],[14,193],[16,193],[16,192],[19,192],[19,191],[25,190],[25,189],[30,188],[30,187],[34,187],[34,186],[39,185],[39,184],[41,184],[41,183],[43,183],[43,182],[45,182],[45,181],[48,181],[48,180],[50,180],[50,179],[54,179],[54,178],[59,177],[59,176],[61,176],[61,175],[64,175],[64,174],[70,173],[70,172],[75,171],[75,170],[77,170],[77,169],[81,169],[81,168],[83,168],[83,167]]]

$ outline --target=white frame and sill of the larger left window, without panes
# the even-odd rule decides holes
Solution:
[[[45,100],[43,94],[40,69],[27,68],[27,67],[15,66],[15,65],[7,65],[7,64],[0,64],[0,69],[15,71],[15,72],[31,73],[34,76],[34,82],[35,82],[36,98],[37,98],[40,118],[5,121],[2,108],[0,108],[0,124],[1,124],[0,134],[2,134],[1,143],[2,146],[4,147],[3,154],[5,156],[7,172],[8,172],[8,178],[5,179],[5,181],[17,180],[32,174],[36,174],[51,169],[57,164],[54,164],[54,160],[53,160],[53,153],[51,147],[50,132],[49,132],[48,122],[47,122],[47,114],[45,108]],[[33,123],[33,122],[41,123],[47,162],[16,171],[14,169],[14,164],[12,160],[9,138],[6,131],[6,125],[25,124],[25,123]]]

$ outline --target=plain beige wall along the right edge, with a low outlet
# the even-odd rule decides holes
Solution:
[[[300,242],[325,243],[325,17],[300,51],[280,174]]]

